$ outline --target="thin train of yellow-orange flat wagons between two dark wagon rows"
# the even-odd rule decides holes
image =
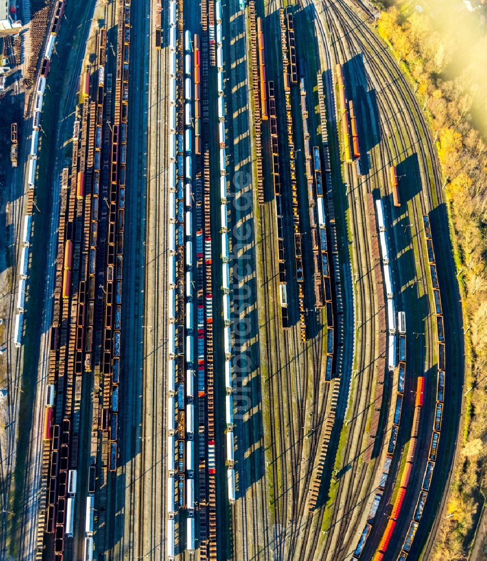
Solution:
[[[281,42],[282,52],[286,50],[285,37],[287,36],[287,25],[284,8],[279,10],[279,19],[281,25]],[[291,18],[292,21],[292,18]],[[297,78],[296,78],[297,81]],[[306,313],[304,306],[304,269],[303,269],[303,253],[301,245],[301,232],[299,226],[299,210],[298,210],[298,185],[296,181],[296,151],[294,148],[294,125],[293,110],[291,108],[291,92],[284,92],[286,98],[286,122],[287,122],[287,149],[289,153],[289,168],[291,178],[291,204],[293,207],[293,231],[294,231],[294,255],[296,260],[296,281],[298,283],[298,302],[299,302],[299,323],[301,331],[301,340],[306,341]]]

